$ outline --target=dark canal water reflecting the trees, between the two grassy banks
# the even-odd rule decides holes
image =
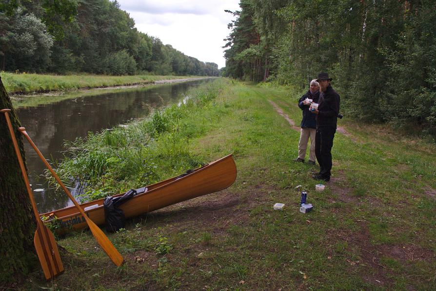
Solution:
[[[61,96],[26,97],[14,103],[21,125],[50,162],[61,161],[65,141],[86,137],[88,132],[145,117],[149,106],[177,103],[190,88],[210,79],[136,88],[83,90]],[[49,188],[45,167],[24,139],[29,181],[40,213],[72,205],[67,195]],[[74,194],[74,189],[72,189]],[[117,193],[114,193],[117,194]]]

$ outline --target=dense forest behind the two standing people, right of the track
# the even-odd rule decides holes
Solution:
[[[241,0],[225,76],[307,87],[328,71],[341,111],[436,134],[434,0]]]

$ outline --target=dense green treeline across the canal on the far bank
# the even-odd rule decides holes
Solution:
[[[0,0],[0,68],[6,71],[218,76],[139,32],[110,0]]]

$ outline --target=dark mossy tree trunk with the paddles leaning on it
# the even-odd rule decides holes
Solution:
[[[0,77],[0,109],[9,108],[9,117],[17,137],[25,165],[25,156],[20,127],[11,100]],[[0,113],[0,289],[8,283],[20,281],[29,272],[37,259],[33,246],[36,229],[20,165],[4,113]]]

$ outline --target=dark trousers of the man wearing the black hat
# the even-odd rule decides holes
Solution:
[[[318,127],[315,137],[315,155],[319,164],[319,174],[330,179],[332,170],[332,147],[335,127]]]

